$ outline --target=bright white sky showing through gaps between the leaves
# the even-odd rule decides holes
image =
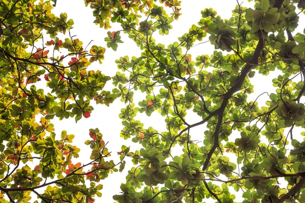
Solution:
[[[157,43],[162,43],[165,45],[171,44],[177,41],[177,38],[182,36],[184,33],[188,32],[189,28],[192,24],[197,24],[197,22],[201,18],[200,11],[204,10],[205,8],[213,8],[218,12],[219,15],[222,16],[223,19],[231,17],[231,11],[236,6],[236,0],[181,0],[181,8],[180,11],[182,16],[180,16],[178,21],[174,21],[172,23],[173,29],[170,30],[168,36],[158,37],[157,33],[154,34],[154,38],[157,40]],[[240,1],[241,3],[242,1]],[[249,7],[253,5],[248,3],[245,0],[242,3],[242,6]],[[118,49],[114,52],[112,49],[106,47],[106,42],[104,38],[107,36],[107,31],[117,31],[120,30],[119,24],[113,24],[113,27],[109,30],[104,30],[99,28],[98,25],[93,23],[94,17],[92,15],[92,9],[89,7],[84,7],[84,1],[75,1],[75,0],[58,0],[57,5],[53,10],[53,13],[56,16],[59,16],[60,13],[66,12],[68,14],[68,19],[74,20],[74,28],[71,30],[71,35],[76,35],[80,41],[83,41],[84,46],[88,44],[91,40],[94,42],[91,44],[95,44],[98,46],[102,46],[106,48],[105,53],[105,60],[103,64],[100,65],[98,62],[93,63],[89,66],[89,70],[100,70],[102,73],[108,76],[114,76],[115,73],[118,71],[114,60],[118,59],[121,56],[128,55],[130,58],[131,56],[139,56],[141,50],[136,46],[136,44],[128,38],[127,35],[121,33],[122,40],[125,42],[123,44],[119,44]],[[302,20],[303,21],[303,20]],[[303,21],[304,22],[304,21]],[[299,23],[302,24],[302,23]],[[303,27],[303,26],[302,26]],[[299,30],[302,32],[302,29]],[[208,40],[208,37],[205,38]],[[50,39],[47,39],[50,40]],[[63,39],[62,39],[63,40]],[[209,43],[202,44],[196,46],[190,50],[189,53],[192,54],[192,58],[195,59],[198,55],[202,54],[211,54],[214,51],[214,46],[211,46]],[[257,75],[256,75],[257,76]],[[260,75],[259,79],[254,77],[251,79],[252,84],[255,85],[255,92],[249,96],[251,100],[254,100],[259,94],[264,91],[274,92],[274,88],[272,87],[271,79],[275,78],[275,76],[268,76],[264,77]],[[106,85],[105,90],[111,91],[112,84],[108,82]],[[136,96],[138,95],[138,96]],[[145,94],[141,94],[140,92],[135,93],[135,103],[137,104],[137,100],[145,99]],[[261,104],[264,105],[264,101],[267,97],[261,97]],[[117,155],[117,151],[121,151],[121,145],[131,146],[131,151],[139,150],[140,145],[131,142],[131,139],[124,140],[120,138],[120,130],[123,128],[121,125],[121,120],[118,117],[120,113],[120,109],[124,108],[124,103],[119,101],[119,98],[114,101],[110,107],[106,107],[105,105],[95,105],[94,101],[92,101],[92,105],[94,106],[95,110],[92,112],[90,118],[82,118],[80,121],[75,123],[74,119],[64,119],[59,121],[58,119],[52,121],[55,124],[55,132],[59,136],[62,130],[67,130],[68,134],[74,134],[75,139],[73,145],[77,146],[81,149],[80,158],[74,159],[73,163],[82,162],[87,163],[89,161],[88,157],[90,156],[91,150],[88,146],[84,145],[86,140],[89,140],[89,128],[99,128],[101,133],[103,134],[103,139],[105,142],[109,141],[107,147],[109,152],[112,152],[112,156],[109,157],[109,160],[113,159],[115,163],[119,162],[119,156]],[[189,123],[196,122],[198,117],[195,114],[188,115],[187,119]],[[165,122],[164,118],[155,112],[152,116],[147,117],[145,114],[139,114],[136,117],[137,120],[141,120],[144,123],[144,128],[148,128],[149,126],[154,127],[159,132],[165,131]],[[192,140],[203,141],[203,132],[206,130],[203,126],[192,128]],[[239,134],[236,134],[238,137]],[[234,137],[234,136],[233,136]],[[234,139],[231,142],[234,142]],[[199,144],[200,145],[200,144]],[[202,144],[201,144],[202,145]],[[175,152],[177,152],[175,154]],[[174,150],[173,155],[180,155],[180,150]],[[236,157],[234,158],[236,159]],[[234,160],[232,160],[234,161]],[[126,182],[126,175],[128,170],[131,168],[132,164],[131,160],[127,157],[126,158],[126,167],[123,173],[114,173],[110,175],[107,179],[101,180],[100,183],[104,185],[102,190],[102,197],[96,197],[96,202],[113,202],[112,196],[114,194],[119,193],[119,186],[121,183]],[[86,171],[86,170],[85,170]],[[231,190],[234,192],[234,190]],[[240,191],[241,192],[241,191]],[[236,197],[241,197],[241,193],[236,195]],[[243,198],[236,198],[235,201],[242,201]],[[211,202],[212,200],[209,199],[207,202]]]

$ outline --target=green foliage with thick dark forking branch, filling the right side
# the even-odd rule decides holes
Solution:
[[[119,115],[125,126],[121,137],[132,138],[142,149],[134,152],[136,167],[115,200],[233,202],[239,193],[231,193],[231,187],[246,191],[243,202],[301,202],[304,143],[292,134],[294,127],[305,127],[305,35],[292,35],[301,24],[296,3],[261,0],[254,8],[237,4],[228,20],[204,9],[198,24],[167,47],[153,38],[170,28],[165,22],[171,20],[160,22],[164,12],[151,9],[139,25],[120,21],[142,54],[115,61],[120,71],[112,77],[117,86],[113,93],[127,105]],[[192,57],[188,51],[206,37],[215,45],[214,53]],[[250,81],[272,72],[279,74],[272,80],[277,90],[266,92],[269,99],[261,107],[258,98],[248,99],[255,85]],[[138,104],[133,100],[136,91],[146,93]],[[164,117],[167,131],[144,128],[137,120],[139,113],[155,112]],[[190,123],[187,115],[192,113],[201,120]],[[193,128],[200,125],[207,128],[203,145],[192,140]],[[291,151],[284,129],[291,135]],[[177,145],[182,146],[181,155],[172,157]]]

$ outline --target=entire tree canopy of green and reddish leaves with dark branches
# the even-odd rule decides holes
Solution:
[[[72,35],[73,20],[52,14],[55,0],[0,1],[0,201],[92,203],[102,195],[100,180],[127,170],[113,196],[121,203],[233,203],[236,196],[242,203],[302,202],[305,132],[294,132],[305,128],[305,23],[299,22],[305,1],[248,2],[252,8],[236,1],[229,19],[202,8],[200,21],[165,46],[154,36],[170,35],[183,9],[179,1],[85,0],[101,29],[121,25],[101,47]],[[107,49],[119,49],[123,35],[141,55],[119,56],[114,76],[89,71]],[[204,43],[214,45],[213,54],[189,53]],[[249,99],[251,80],[269,74],[276,90]],[[105,89],[107,82],[115,87]],[[142,101],[134,103],[136,94]],[[88,129],[89,161],[77,161],[82,149],[73,139],[80,135],[55,134],[52,122],[88,118],[92,103],[113,108],[115,99],[125,108],[114,139],[131,139],[138,150],[122,146],[114,162],[107,142],[115,141]],[[164,118],[165,131],[137,119],[153,113]],[[199,141],[192,138],[198,126],[205,129]],[[179,156],[172,156],[174,148]]]

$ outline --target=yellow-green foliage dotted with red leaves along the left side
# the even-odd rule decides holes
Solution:
[[[103,90],[110,77],[87,70],[102,62],[105,48],[86,50],[70,35],[73,20],[54,16],[50,1],[0,5],[0,201],[28,202],[36,194],[43,202],[93,202],[102,189],[94,182],[118,171],[102,134],[90,129],[90,161],[77,163],[75,136],[55,135],[51,120],[88,118],[93,99],[112,103],[115,95]]]

